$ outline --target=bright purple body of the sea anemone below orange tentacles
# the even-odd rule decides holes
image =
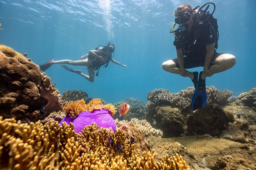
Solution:
[[[99,128],[112,128],[114,132],[116,132],[116,123],[112,116],[110,115],[110,111],[102,109],[102,110],[93,110],[90,112],[81,112],[77,118],[70,118],[67,115],[62,121],[59,123],[62,126],[62,122],[73,123],[75,127],[75,132],[82,132],[85,126],[89,126],[92,123],[97,124]]]

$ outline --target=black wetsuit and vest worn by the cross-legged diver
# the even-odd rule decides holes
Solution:
[[[199,33],[198,38],[196,39],[196,43],[194,43],[195,39],[194,36],[196,34],[197,30],[197,23],[194,22],[193,27],[186,36],[186,41],[184,42],[185,45],[182,47],[183,54],[184,54],[184,67],[185,69],[188,68],[194,68],[194,67],[203,67],[205,62],[205,55],[206,55],[206,45],[212,44],[215,42],[215,31],[210,22],[204,23],[202,27],[202,31]],[[181,39],[181,32],[175,33],[176,36]],[[175,38],[175,40],[177,40]],[[192,44],[192,45],[191,45]],[[189,45],[191,47],[189,48]],[[188,50],[190,52],[188,52]],[[216,50],[214,50],[214,54],[212,57],[212,61],[210,66],[214,64],[214,60],[220,56],[223,53],[217,53]],[[177,67],[179,66],[178,59],[174,58],[172,59]]]

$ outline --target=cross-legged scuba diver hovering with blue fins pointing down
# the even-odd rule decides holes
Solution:
[[[209,4],[214,6],[210,14]],[[207,5],[205,10],[202,10]],[[206,12],[207,11],[207,12]],[[212,14],[214,3],[206,3],[202,7],[192,8],[190,4],[183,4],[174,11],[175,23],[170,33],[175,36],[177,58],[165,61],[162,67],[165,71],[189,77],[194,83],[195,92],[191,101],[191,110],[197,110],[207,104],[206,77],[225,71],[236,63],[234,55],[217,53],[218,25]],[[173,27],[179,28],[173,31]],[[203,71],[190,72],[186,69],[203,67]]]

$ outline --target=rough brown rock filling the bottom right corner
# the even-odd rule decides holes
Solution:
[[[206,162],[213,170],[256,169],[256,147],[253,144],[232,145],[217,155],[208,156]]]

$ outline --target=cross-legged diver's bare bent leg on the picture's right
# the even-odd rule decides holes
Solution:
[[[214,60],[214,65],[209,68],[209,71],[212,74],[220,73],[226,71],[233,67],[236,64],[236,57],[231,54],[221,54]],[[203,73],[202,79],[205,79],[206,76]]]

